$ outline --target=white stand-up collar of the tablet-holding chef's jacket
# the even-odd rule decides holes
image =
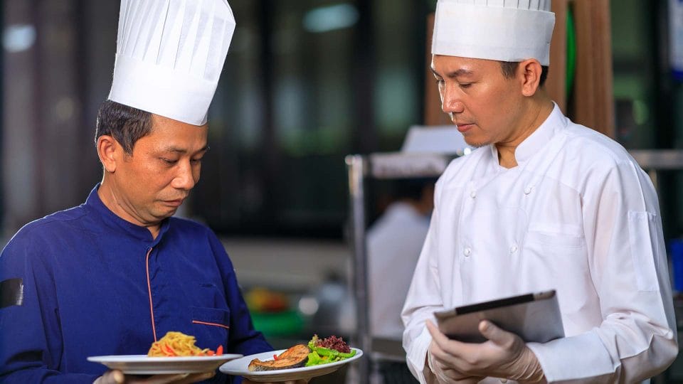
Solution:
[[[555,102],[553,102],[553,105],[553,110],[545,121],[514,150],[514,158],[517,160],[517,166],[526,164],[531,157],[538,154],[541,149],[551,141],[555,134],[567,127],[567,118],[564,117],[560,107],[558,107]],[[498,149],[494,144],[489,145],[489,148],[492,158],[498,163]]]

